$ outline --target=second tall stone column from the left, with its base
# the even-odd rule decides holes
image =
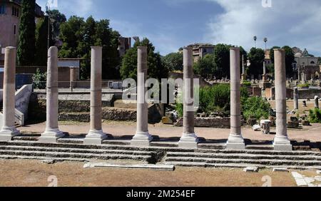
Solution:
[[[58,48],[48,51],[47,63],[47,95],[46,95],[46,130],[41,134],[39,142],[56,143],[63,137],[58,128]]]

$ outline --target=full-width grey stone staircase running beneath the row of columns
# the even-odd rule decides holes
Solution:
[[[128,140],[107,140],[103,145],[83,145],[81,139],[65,138],[59,143],[39,143],[37,135],[0,142],[0,159],[55,161],[131,161],[203,168],[289,168],[321,170],[321,152],[280,152],[268,149],[225,150],[212,146],[196,150],[153,143],[148,148],[128,145]]]

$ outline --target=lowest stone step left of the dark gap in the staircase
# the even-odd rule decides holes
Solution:
[[[56,153],[44,151],[0,150],[0,155],[40,156],[46,158],[82,158],[91,160],[143,160],[154,162],[150,155],[93,154],[93,153]]]

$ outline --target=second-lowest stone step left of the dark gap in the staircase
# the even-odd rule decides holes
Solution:
[[[0,146],[0,150],[26,150],[26,151],[44,151],[57,153],[93,153],[93,154],[124,154],[124,155],[151,155],[152,152],[133,151],[133,150],[95,150],[95,149],[77,149],[77,148],[44,148],[28,146]]]

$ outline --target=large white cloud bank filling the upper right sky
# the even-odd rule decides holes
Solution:
[[[208,0],[225,11],[208,22],[205,40],[231,43],[251,48],[253,36],[263,48],[268,46],[298,46],[321,55],[321,1],[272,0],[272,8],[264,8],[261,0]]]

